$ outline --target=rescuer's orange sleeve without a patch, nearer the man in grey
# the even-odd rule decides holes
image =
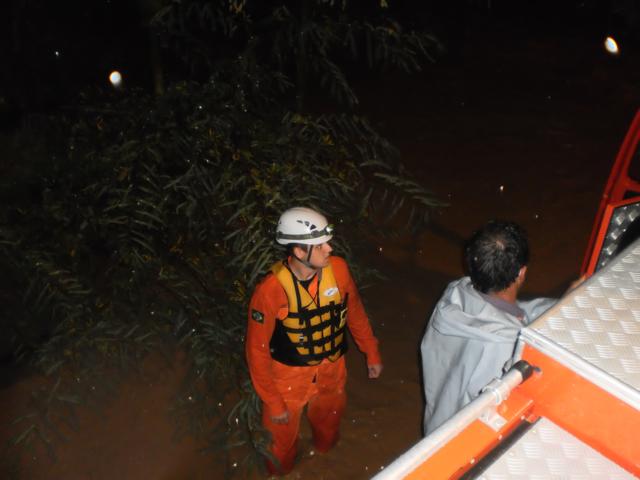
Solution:
[[[347,303],[349,331],[360,351],[367,356],[367,365],[382,364],[382,357],[378,350],[378,339],[373,335],[369,318],[364,310],[364,305],[362,305],[358,288],[353,281],[351,272],[349,272],[349,267],[342,258],[332,257],[331,260],[340,295],[344,298],[347,293],[349,294]]]

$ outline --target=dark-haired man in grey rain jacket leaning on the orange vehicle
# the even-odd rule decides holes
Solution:
[[[465,248],[468,277],[451,282],[420,347],[425,435],[438,428],[511,367],[520,329],[555,300],[517,300],[529,262],[525,231],[492,221]]]

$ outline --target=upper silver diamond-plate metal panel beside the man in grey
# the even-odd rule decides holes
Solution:
[[[560,299],[521,338],[640,409],[640,240]]]

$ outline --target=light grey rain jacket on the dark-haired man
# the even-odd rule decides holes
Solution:
[[[521,320],[487,302],[469,277],[449,284],[420,346],[427,401],[425,435],[511,367],[520,329],[555,302],[550,298],[518,302],[525,314]]]

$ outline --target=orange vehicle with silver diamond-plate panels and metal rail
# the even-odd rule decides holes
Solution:
[[[509,372],[375,480],[640,477],[639,142],[640,110],[602,195],[587,280],[521,331]]]

